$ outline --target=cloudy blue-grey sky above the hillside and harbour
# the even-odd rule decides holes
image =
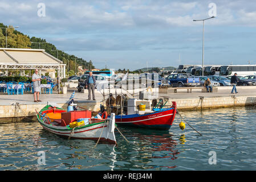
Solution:
[[[177,67],[202,63],[202,22],[193,19],[209,18],[210,3],[205,64],[256,64],[256,1],[0,0],[0,22],[97,68]]]

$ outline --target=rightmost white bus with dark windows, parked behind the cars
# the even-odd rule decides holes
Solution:
[[[220,68],[221,76],[237,73],[238,76],[256,75],[256,65],[224,65]]]

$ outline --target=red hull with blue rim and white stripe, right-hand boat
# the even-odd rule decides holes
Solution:
[[[144,127],[147,129],[169,130],[176,115],[176,107],[162,109],[150,114],[116,115],[116,124]]]

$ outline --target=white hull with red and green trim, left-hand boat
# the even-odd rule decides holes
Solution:
[[[42,111],[42,110],[41,110]],[[43,110],[45,111],[45,110]],[[98,140],[104,143],[116,144],[116,138],[114,134],[115,129],[115,115],[107,121],[95,122],[90,125],[76,127],[71,129],[68,126],[55,126],[46,123],[42,119],[40,112],[37,115],[38,122],[44,130],[58,135],[62,138],[70,139],[87,139],[87,140]]]

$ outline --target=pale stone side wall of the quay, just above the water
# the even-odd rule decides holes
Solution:
[[[179,111],[196,111],[207,109],[220,109],[226,107],[255,106],[256,96],[229,96],[229,97],[204,97],[204,98],[182,98],[169,100],[166,105],[172,105],[171,101],[176,101]],[[77,101],[79,106],[89,110],[98,111],[102,102]],[[36,110],[42,109],[47,102],[40,104],[21,104],[22,110],[15,113],[15,105],[0,105],[0,124],[13,122],[37,122]],[[57,103],[60,107],[67,108],[67,103]]]

